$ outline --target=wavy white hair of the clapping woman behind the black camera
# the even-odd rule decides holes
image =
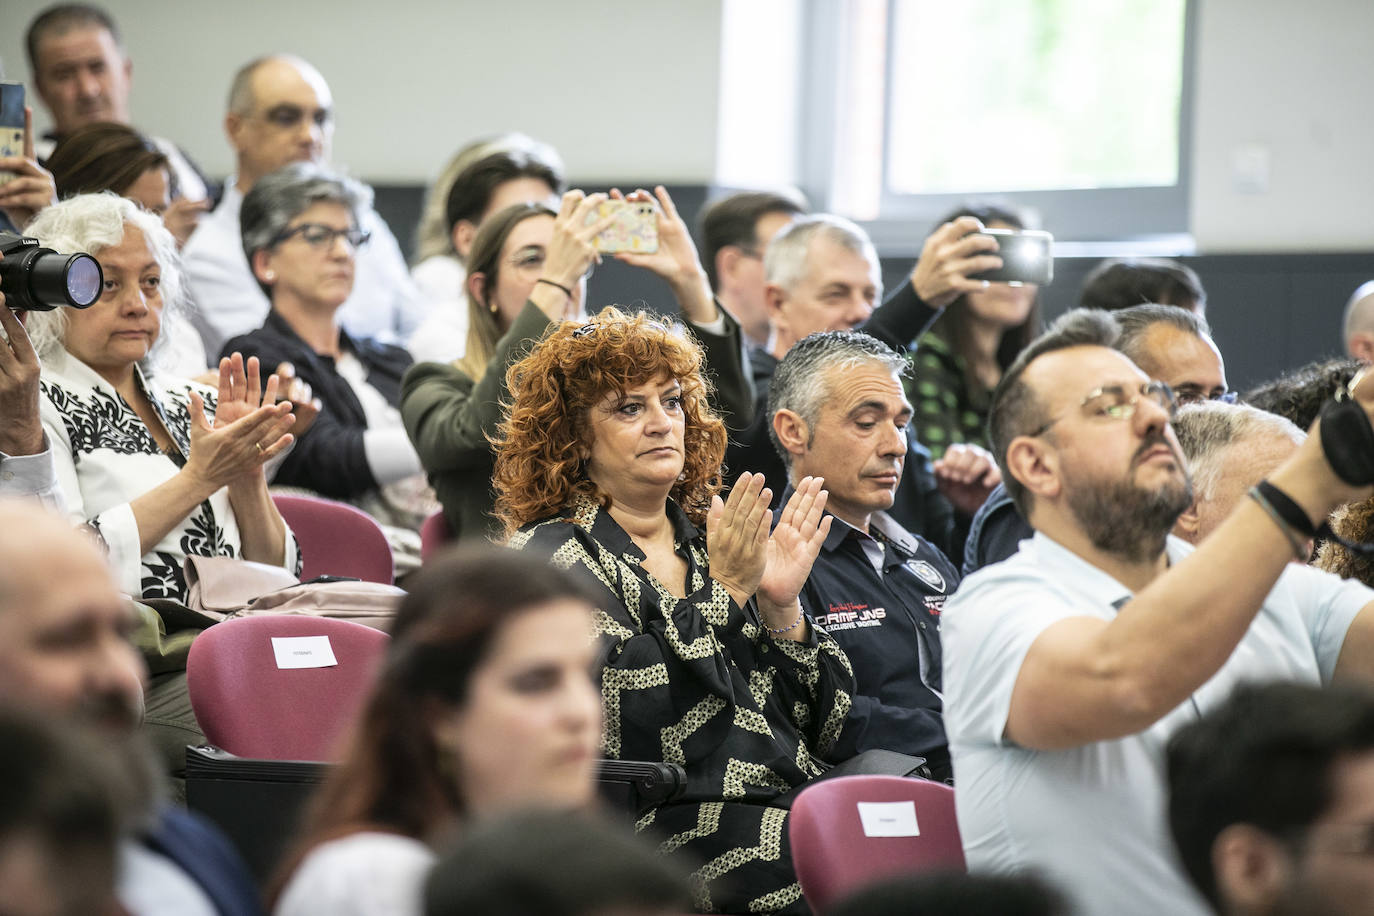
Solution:
[[[143,233],[161,272],[162,331],[146,358],[147,368],[151,369],[165,349],[169,338],[169,323],[185,320],[181,258],[176,250],[176,239],[162,225],[162,220],[128,198],[121,198],[113,191],[102,191],[99,194],[78,194],[44,207],[25,227],[25,235],[32,235],[54,251],[62,254],[85,251],[99,261],[100,251],[124,242],[126,225],[132,225]],[[67,335],[67,314],[69,310],[65,308],[29,314],[25,330],[27,330],[29,339],[33,341],[33,349],[40,358],[51,357],[63,347]],[[190,330],[188,324],[185,327]]]

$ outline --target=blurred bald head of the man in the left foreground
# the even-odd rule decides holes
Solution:
[[[132,729],[143,707],[132,626],[88,536],[37,504],[0,500],[0,702]]]

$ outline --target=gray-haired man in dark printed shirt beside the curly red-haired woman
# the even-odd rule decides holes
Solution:
[[[791,347],[768,393],[789,486],[826,481],[830,534],[801,606],[849,655],[857,689],[833,753],[925,757],[949,779],[940,702],[940,610],[959,574],[930,541],[893,520],[908,457],[905,361],[867,334],[813,334]]]

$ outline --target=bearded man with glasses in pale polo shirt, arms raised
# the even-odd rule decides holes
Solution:
[[[1292,563],[1300,526],[1370,489],[1311,435],[1195,549],[1171,538],[1193,501],[1175,398],[1117,334],[1070,312],[993,394],[1035,536],[945,604],[945,729],[970,871],[1039,869],[1081,913],[1190,916],[1208,909],[1169,845],[1165,744],[1242,681],[1374,677],[1374,592]],[[1353,397],[1374,411],[1374,379]]]

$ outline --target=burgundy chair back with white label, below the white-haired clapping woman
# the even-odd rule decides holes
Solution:
[[[280,667],[273,639],[328,639],[337,665]],[[209,743],[238,757],[331,761],[382,661],[386,633],[326,617],[265,614],[195,637],[185,681]],[[291,647],[295,654],[305,645]]]

